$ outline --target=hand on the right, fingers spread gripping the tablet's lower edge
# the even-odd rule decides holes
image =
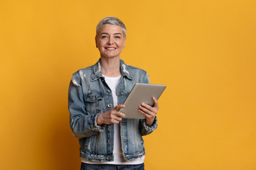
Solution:
[[[154,101],[154,107],[149,106],[145,103],[142,103],[142,105],[139,106],[139,112],[145,115],[147,126],[151,126],[154,123],[156,113],[159,110],[159,105],[156,101],[156,98],[153,97],[152,99]]]

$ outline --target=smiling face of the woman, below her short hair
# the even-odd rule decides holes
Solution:
[[[95,38],[96,47],[100,51],[100,57],[112,58],[120,57],[125,39],[122,27],[104,24]]]

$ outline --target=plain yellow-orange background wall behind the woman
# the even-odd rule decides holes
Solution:
[[[0,1],[0,169],[80,169],[73,72],[100,57],[95,27],[127,26],[122,59],[166,84],[146,169],[256,169],[256,1]]]

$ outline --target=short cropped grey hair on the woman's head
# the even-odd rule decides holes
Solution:
[[[110,25],[122,27],[122,31],[123,31],[123,34],[124,34],[124,39],[126,39],[126,32],[127,32],[127,29],[126,29],[126,27],[124,26],[124,23],[123,23],[121,20],[119,20],[119,18],[116,18],[116,17],[114,17],[114,16],[108,16],[108,17],[106,17],[106,18],[103,18],[103,19],[97,24],[97,27],[96,27],[96,38],[97,38],[97,36],[99,35],[100,28],[101,28],[104,24],[110,24]]]

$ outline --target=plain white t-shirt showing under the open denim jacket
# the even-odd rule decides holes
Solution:
[[[103,77],[105,77],[103,75]],[[114,101],[114,107],[117,106],[117,85],[119,84],[121,75],[118,77],[105,77],[105,81],[107,85],[110,87],[112,91],[112,97]],[[139,157],[137,159],[133,159],[131,161],[127,161],[124,159],[124,155],[122,152],[122,145],[121,145],[121,136],[120,136],[120,123],[114,123],[114,161],[113,162],[91,162],[85,159],[82,159],[83,163],[86,164],[142,164],[144,162],[144,156]]]

